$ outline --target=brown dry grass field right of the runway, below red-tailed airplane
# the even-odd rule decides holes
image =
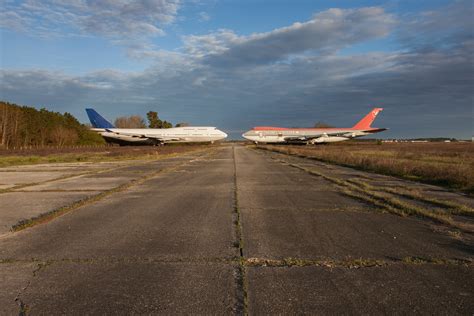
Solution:
[[[258,148],[474,194],[472,143],[341,143],[326,146],[258,145]]]

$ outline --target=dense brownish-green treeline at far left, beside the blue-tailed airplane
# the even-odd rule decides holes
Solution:
[[[104,139],[69,113],[0,101],[0,146],[101,145]]]

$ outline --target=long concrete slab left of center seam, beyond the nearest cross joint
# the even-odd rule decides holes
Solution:
[[[148,180],[6,238],[0,257],[235,258],[232,161],[220,163],[231,172],[202,162],[198,173]]]

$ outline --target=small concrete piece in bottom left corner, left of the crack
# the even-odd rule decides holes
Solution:
[[[18,295],[33,278],[36,263],[4,262],[0,263],[0,314],[19,315],[20,302]]]

